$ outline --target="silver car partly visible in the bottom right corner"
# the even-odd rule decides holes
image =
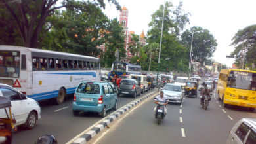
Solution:
[[[256,118],[242,118],[228,135],[228,144],[256,143]]]

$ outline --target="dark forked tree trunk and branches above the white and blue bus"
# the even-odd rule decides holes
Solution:
[[[49,31],[49,29],[43,29],[43,26],[47,25],[47,16],[53,15],[55,10],[62,7],[74,9],[76,11],[89,9],[89,7],[87,7],[87,2],[75,0],[64,0],[60,6],[56,6],[58,0],[24,0],[15,5],[13,5],[12,0],[0,1],[0,5],[4,5],[5,10],[9,12],[9,15],[7,16],[10,16],[10,24],[14,31],[20,35],[22,46],[32,48],[37,48],[39,35],[42,30]],[[116,0],[108,0],[108,2],[114,3],[118,10],[121,9]],[[105,3],[102,0],[97,0],[96,2],[93,1],[93,5],[105,8]]]

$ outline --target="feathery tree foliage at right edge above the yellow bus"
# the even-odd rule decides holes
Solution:
[[[240,57],[244,48],[245,66],[251,68],[252,63],[256,63],[256,25],[247,26],[239,30],[232,38],[231,45],[234,46],[234,51],[231,55],[236,56],[236,63],[240,64]]]

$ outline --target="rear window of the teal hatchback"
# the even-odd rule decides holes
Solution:
[[[76,92],[86,94],[100,94],[100,86],[98,84],[80,83]]]

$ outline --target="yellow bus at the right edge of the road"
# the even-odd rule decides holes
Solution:
[[[256,71],[221,69],[217,94],[224,107],[238,105],[253,111],[256,107]]]

